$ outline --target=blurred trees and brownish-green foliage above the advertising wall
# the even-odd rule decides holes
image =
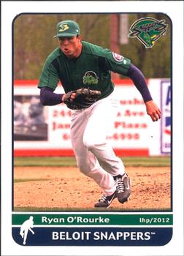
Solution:
[[[151,50],[147,50],[138,39],[128,37],[131,25],[145,17],[164,19],[169,24],[166,36],[158,39],[156,47]],[[57,39],[53,39],[55,26],[59,21],[67,19],[76,20],[80,24],[84,41],[126,56],[142,70],[146,78],[171,76],[171,24],[164,14],[21,14],[13,23],[15,80],[39,79],[47,55],[58,46]]]

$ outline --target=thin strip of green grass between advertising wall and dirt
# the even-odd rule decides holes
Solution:
[[[126,167],[128,166],[170,166],[170,157],[123,157],[121,158]],[[76,167],[74,157],[15,157],[14,166],[71,166]]]

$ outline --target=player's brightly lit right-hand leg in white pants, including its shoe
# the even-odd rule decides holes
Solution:
[[[101,167],[107,170],[115,179],[117,195],[120,203],[129,199],[130,179],[125,173],[125,167],[119,157],[116,157],[107,135],[115,119],[115,99],[101,99],[88,109],[88,124],[85,128],[83,143],[99,160]],[[90,111],[91,110],[91,111]]]

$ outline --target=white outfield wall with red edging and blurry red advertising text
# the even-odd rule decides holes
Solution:
[[[42,107],[37,80],[15,80],[15,156],[72,156],[69,126],[71,110],[65,104]],[[162,118],[151,121],[131,80],[115,80],[120,102],[108,140],[119,156],[163,156],[171,146],[171,86],[169,79],[149,79],[147,85],[161,108]],[[63,93],[59,85],[55,92]],[[97,124],[96,124],[97,125]]]

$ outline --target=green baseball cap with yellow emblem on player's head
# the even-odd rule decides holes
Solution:
[[[80,34],[80,26],[74,20],[63,20],[56,26],[54,37],[74,37]]]

